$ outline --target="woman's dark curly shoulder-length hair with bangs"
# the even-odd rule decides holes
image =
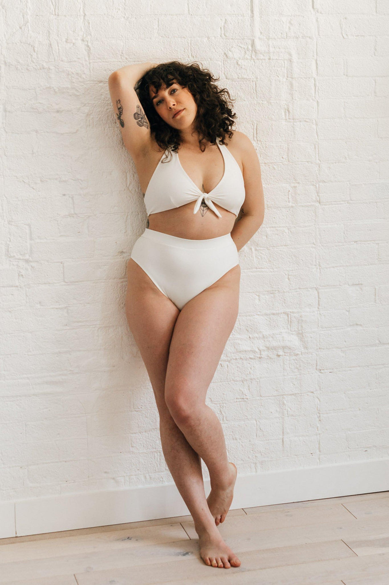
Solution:
[[[201,152],[205,150],[202,140],[216,144],[216,138],[219,138],[225,144],[226,135],[230,138],[233,136],[236,113],[230,106],[235,100],[231,99],[228,90],[220,90],[215,81],[219,81],[219,77],[214,77],[208,69],[199,67],[196,62],[185,65],[180,61],[170,61],[149,69],[136,82],[134,89],[150,122],[150,132],[161,148],[177,152],[182,141],[179,130],[164,122],[156,112],[149,94],[150,85],[156,92],[162,84],[170,87],[174,82],[188,88],[197,104],[194,129],[199,135]]]

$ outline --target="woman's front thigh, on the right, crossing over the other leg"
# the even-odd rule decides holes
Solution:
[[[190,409],[205,402],[227,339],[239,311],[240,266],[181,309],[170,342],[165,400],[170,407]]]

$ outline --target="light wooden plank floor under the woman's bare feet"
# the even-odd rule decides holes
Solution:
[[[191,516],[0,539],[6,585],[388,585],[389,491],[230,510],[240,567],[206,566]]]

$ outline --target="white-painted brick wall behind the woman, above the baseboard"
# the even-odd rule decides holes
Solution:
[[[142,61],[220,75],[262,164],[208,393],[230,459],[388,457],[387,0],[19,0],[1,29],[1,500],[172,481],[125,321],[146,214],[107,85]]]

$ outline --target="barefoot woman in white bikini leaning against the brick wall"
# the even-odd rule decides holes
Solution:
[[[257,153],[247,136],[232,132],[236,115],[217,80],[195,63],[171,61],[122,67],[108,84],[148,212],[127,264],[127,321],[201,558],[228,568],[240,560],[216,526],[232,503],[237,469],[205,397],[238,314],[237,251],[260,227],[264,197]],[[200,458],[211,479],[208,498]]]

